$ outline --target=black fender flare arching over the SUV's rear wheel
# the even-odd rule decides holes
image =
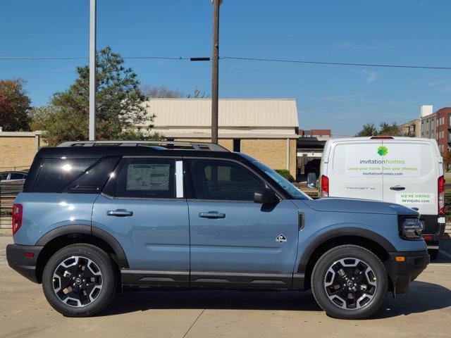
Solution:
[[[127,256],[125,256],[125,252],[116,238],[111,236],[111,234],[109,234],[105,230],[101,230],[98,227],[92,227],[91,225],[71,224],[63,225],[62,227],[56,227],[54,230],[50,230],[46,234],[42,235],[42,237],[38,239],[35,245],[45,246],[52,239],[60,237],[64,234],[89,234],[93,237],[102,239],[104,242],[109,244],[109,246],[111,246],[111,249],[113,249],[114,253],[116,254],[116,263],[118,263],[119,268],[129,268]]]

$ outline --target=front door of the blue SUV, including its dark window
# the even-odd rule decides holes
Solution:
[[[236,161],[192,159],[188,199],[191,284],[290,287],[298,211],[290,200],[254,203],[265,182]]]

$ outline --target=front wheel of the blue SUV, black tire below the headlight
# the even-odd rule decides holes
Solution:
[[[356,284],[354,284],[357,289],[357,291],[355,291],[356,294],[354,294],[355,297],[352,296],[354,289],[347,291],[347,288],[349,287],[347,280],[345,282],[345,284],[347,284],[345,287],[345,284],[339,283],[339,281],[344,282],[345,280],[342,280],[343,277],[340,276],[338,272],[335,274],[329,272],[329,268],[332,266],[340,267],[340,265],[336,264],[341,264],[340,260],[343,260],[344,258],[352,258],[355,260],[354,262],[356,264],[357,261],[362,262],[359,263],[362,264],[362,267],[358,265],[358,268],[345,268],[345,270],[349,271],[350,269],[355,269],[354,273],[355,271],[358,271],[359,268],[365,270],[364,275],[353,275],[352,273],[349,273],[348,275],[348,273],[345,273],[345,278],[347,279],[351,279],[350,276],[355,276],[356,278]],[[352,259],[349,262],[352,262]],[[345,261],[345,263],[347,263],[347,261]],[[366,268],[364,268],[364,266],[371,268],[369,274],[372,276],[371,279],[374,285],[368,283],[369,277],[366,276]],[[357,280],[357,278],[360,278],[360,280]],[[361,280],[362,282],[360,282]],[[357,284],[357,281],[360,284]],[[326,286],[326,284],[330,284],[330,286]],[[332,286],[332,284],[336,285]],[[330,289],[327,289],[328,287]],[[345,302],[342,302],[343,298],[333,296],[334,287],[337,294],[338,292],[349,292]],[[365,288],[365,291],[359,289],[362,287]],[[349,304],[348,307],[347,301],[350,301],[350,299],[357,299],[357,297],[359,297],[358,299],[361,299],[357,292],[365,293],[367,287],[369,288],[368,292],[373,292],[373,294],[371,294],[372,298],[369,299],[369,297],[364,297],[361,302],[363,303],[365,301],[365,303],[362,305],[360,305],[357,300],[353,301],[354,304]],[[357,245],[340,245],[324,253],[316,262],[313,272],[311,273],[311,290],[316,302],[328,315],[330,315],[330,317],[339,319],[362,319],[369,317],[378,311],[385,301],[385,296],[388,291],[388,275],[381,260],[368,249]],[[330,292],[330,290],[332,290],[332,292]],[[333,299],[330,299],[329,297],[332,297]],[[358,306],[361,307],[358,308],[358,306],[355,305],[357,303],[359,303]],[[342,308],[340,305],[345,306],[346,308]],[[352,306],[354,306],[354,308],[352,308]]]

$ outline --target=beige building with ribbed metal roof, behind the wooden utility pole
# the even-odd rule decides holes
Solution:
[[[153,131],[176,141],[211,139],[211,99],[152,99]],[[137,126],[145,127],[144,125]],[[219,144],[296,177],[295,99],[220,99]]]

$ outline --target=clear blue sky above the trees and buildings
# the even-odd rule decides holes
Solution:
[[[97,0],[97,48],[125,57],[211,56],[209,0]],[[451,1],[224,0],[220,55],[451,66]],[[0,1],[0,57],[89,56],[89,0]],[[87,61],[0,61],[35,106]],[[210,93],[210,63],[127,60],[142,84]],[[295,98],[299,127],[354,135],[407,122],[422,104],[451,106],[451,70],[222,60],[220,97]]]

